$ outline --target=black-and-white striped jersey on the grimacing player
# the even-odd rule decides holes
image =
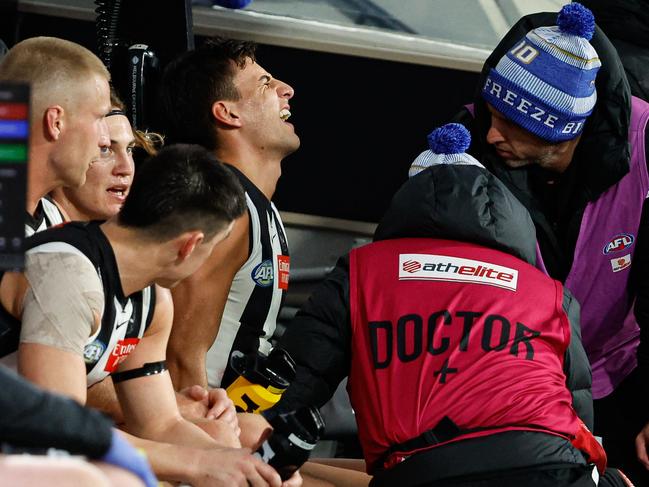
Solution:
[[[290,258],[279,212],[240,171],[228,166],[246,191],[250,215],[250,254],[234,276],[221,325],[207,352],[207,381],[227,387],[237,374],[229,366],[234,350],[268,354],[270,338],[288,289]]]

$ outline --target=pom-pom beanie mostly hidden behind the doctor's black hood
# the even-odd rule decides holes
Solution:
[[[428,147],[419,154],[408,170],[408,177],[437,164],[459,164],[484,167],[465,151],[471,145],[471,134],[464,125],[448,123],[428,134]]]

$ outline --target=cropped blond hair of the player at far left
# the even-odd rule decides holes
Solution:
[[[32,113],[76,101],[74,86],[93,74],[110,80],[108,69],[91,51],[56,37],[25,39],[0,62],[0,81],[30,83]]]

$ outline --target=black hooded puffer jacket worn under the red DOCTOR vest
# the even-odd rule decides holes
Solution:
[[[471,165],[438,165],[409,179],[394,196],[375,240],[444,238],[477,243],[535,260],[534,225],[525,208],[493,174]],[[297,363],[297,378],[280,410],[322,406],[350,366],[348,256],[340,259],[281,339]],[[564,309],[572,329],[566,360],[575,409],[592,427],[590,367],[581,346],[578,304],[566,292]]]

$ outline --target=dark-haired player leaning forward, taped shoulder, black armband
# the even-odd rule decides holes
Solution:
[[[180,417],[164,362],[168,322],[132,312],[138,291],[194,272],[244,208],[240,184],[209,152],[169,147],[144,163],[118,216],[35,235],[24,275],[7,275],[24,290],[1,296],[22,319],[19,371],[81,403],[111,376],[125,430],[164,480],[281,484],[247,450],[223,448]]]

